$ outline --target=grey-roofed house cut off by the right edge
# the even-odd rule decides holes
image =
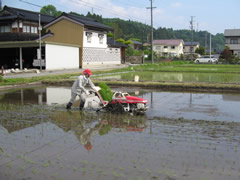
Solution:
[[[224,31],[225,46],[228,46],[232,54],[240,57],[240,29],[226,29]]]

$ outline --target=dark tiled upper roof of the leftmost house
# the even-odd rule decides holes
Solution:
[[[4,6],[4,8],[0,11],[0,20],[8,21],[8,20],[22,19],[22,20],[31,21],[31,22],[38,22],[39,14],[40,14],[39,12],[27,11],[24,9]],[[41,14],[41,23],[47,24],[48,22],[52,21],[55,18],[56,17],[54,16]]]

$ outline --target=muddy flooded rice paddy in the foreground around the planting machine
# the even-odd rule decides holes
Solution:
[[[0,179],[240,179],[240,94],[122,90],[145,115],[67,111],[68,87],[0,92]]]

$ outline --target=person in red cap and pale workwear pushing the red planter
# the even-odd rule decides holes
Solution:
[[[90,80],[90,75],[92,75],[92,72],[90,69],[86,69],[82,73],[83,75],[78,76],[78,78],[75,80],[75,82],[72,85],[72,90],[71,90],[71,99],[69,103],[67,104],[67,109],[71,109],[71,106],[73,102],[76,99],[76,96],[78,95],[80,97],[80,110],[83,109],[85,100],[86,100],[86,95],[89,95],[88,90],[86,90],[84,87],[89,84],[92,89],[95,89],[96,87]]]

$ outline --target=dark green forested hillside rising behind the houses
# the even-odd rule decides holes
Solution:
[[[77,13],[74,13],[77,14]],[[81,15],[84,16],[84,15]],[[119,18],[102,18],[101,15],[91,14],[88,12],[86,17],[96,19],[97,21],[111,26],[115,29],[115,39],[123,38],[128,40],[130,38],[139,39],[139,41],[149,42],[151,26],[131,21],[122,20]],[[154,28],[154,39],[183,39],[185,42],[192,40],[192,32],[187,29],[173,30],[172,28]],[[200,42],[200,45],[209,49],[209,35],[207,31],[194,31],[193,41]],[[212,35],[212,50],[222,51],[225,46],[225,39],[223,34]]]

